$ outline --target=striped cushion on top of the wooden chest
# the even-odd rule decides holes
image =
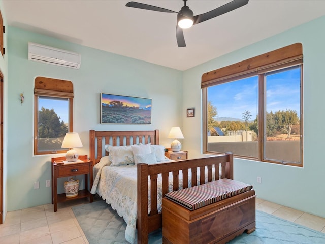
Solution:
[[[185,188],[165,195],[189,210],[195,210],[214,202],[250,191],[252,185],[232,179],[219,179],[203,185]]]

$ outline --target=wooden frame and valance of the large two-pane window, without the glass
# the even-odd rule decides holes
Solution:
[[[265,74],[281,70],[288,67],[300,66],[300,163],[283,162],[269,160],[265,157],[265,114],[266,114],[266,93],[265,93]],[[239,79],[258,76],[258,156],[257,158],[248,156],[238,156],[249,160],[257,160],[275,164],[285,164],[303,167],[303,54],[302,44],[296,43],[256,57],[246,59],[242,62],[226,66],[202,75],[202,115],[203,115],[203,153],[219,154],[208,151],[208,93],[210,86],[236,81]]]

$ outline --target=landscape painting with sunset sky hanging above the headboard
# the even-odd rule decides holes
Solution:
[[[101,124],[151,124],[151,99],[101,93]]]

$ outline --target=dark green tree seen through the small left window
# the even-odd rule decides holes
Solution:
[[[39,111],[39,137],[57,138],[64,137],[68,132],[68,126],[60,121],[54,109],[41,108]]]

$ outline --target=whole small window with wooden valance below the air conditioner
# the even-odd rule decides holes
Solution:
[[[71,81],[35,79],[34,154],[63,153],[64,135],[72,132],[73,86]]]

